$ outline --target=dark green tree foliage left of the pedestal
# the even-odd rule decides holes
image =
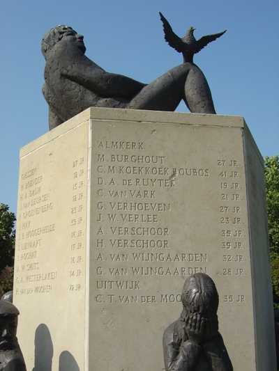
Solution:
[[[16,219],[15,214],[8,210],[8,205],[0,203],[0,273],[14,264]]]

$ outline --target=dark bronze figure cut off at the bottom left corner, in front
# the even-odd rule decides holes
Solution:
[[[19,310],[4,299],[0,300],[0,371],[26,371],[20,345],[17,342]]]

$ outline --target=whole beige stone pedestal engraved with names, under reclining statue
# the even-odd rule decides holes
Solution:
[[[195,272],[216,283],[234,370],[276,370],[264,168],[243,118],[88,109],[22,148],[28,370],[164,370]]]

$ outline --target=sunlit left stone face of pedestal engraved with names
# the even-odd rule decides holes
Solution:
[[[84,363],[87,138],[85,123],[20,161],[14,301],[30,370],[43,362],[36,352],[42,324],[53,368],[65,350]]]

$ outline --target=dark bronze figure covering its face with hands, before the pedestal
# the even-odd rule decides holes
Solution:
[[[189,276],[183,286],[183,310],[163,335],[166,371],[232,371],[218,332],[219,297],[209,276]]]

